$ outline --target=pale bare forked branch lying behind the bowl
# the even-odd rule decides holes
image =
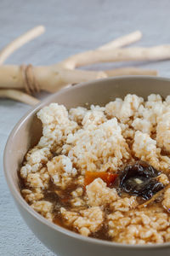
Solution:
[[[158,61],[170,59],[170,45],[158,45],[150,48],[131,47],[142,37],[139,31],[116,38],[109,44],[97,49],[71,55],[64,61],[52,66],[33,67],[30,65],[4,65],[4,61],[14,50],[19,49],[33,38],[44,32],[43,26],[37,26],[16,38],[0,51],[0,97],[8,97],[26,104],[35,105],[38,99],[32,94],[40,90],[55,92],[68,84],[77,84],[89,80],[122,75],[156,75],[156,70],[137,67],[115,68],[105,71],[85,71],[78,69],[99,62],[112,61]]]

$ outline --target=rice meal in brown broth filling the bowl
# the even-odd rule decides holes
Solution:
[[[83,236],[170,241],[170,96],[127,95],[105,107],[51,103],[20,169],[24,199]]]

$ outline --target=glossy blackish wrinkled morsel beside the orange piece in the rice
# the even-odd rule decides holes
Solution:
[[[120,188],[129,195],[141,196],[148,200],[164,188],[164,185],[156,180],[160,173],[153,166],[139,161],[125,167],[120,177]]]

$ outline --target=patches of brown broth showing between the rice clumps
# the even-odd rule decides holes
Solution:
[[[166,154],[165,152],[162,152],[162,154],[163,153]],[[56,156],[56,155],[57,154],[53,153],[53,156]],[[134,163],[135,160],[138,160],[138,159],[136,159],[133,156],[133,160],[127,161],[127,163],[124,166],[126,166],[127,164],[129,165],[129,164]],[[23,161],[23,163],[24,163],[24,161]],[[122,172],[124,166],[122,166],[118,170],[118,172]],[[20,172],[18,172],[18,176],[19,176],[20,190],[30,189],[26,185],[24,179],[22,177],[20,177]],[[168,178],[170,178],[170,176],[168,176]],[[118,195],[120,195],[121,198],[130,197],[130,195],[128,195],[127,193],[121,192],[119,190],[119,183],[120,183],[120,180],[119,180],[119,177],[117,177],[116,181],[111,185],[111,188],[115,188],[118,192]],[[60,207],[65,207],[65,209],[67,211],[69,211],[69,210],[71,211],[73,209],[73,207],[71,207],[71,192],[74,191],[75,189],[77,189],[77,184],[75,184],[75,183],[70,183],[69,186],[66,189],[60,189],[59,187],[54,185],[52,180],[50,180],[49,183],[48,183],[48,189],[42,190],[42,194],[44,196],[43,200],[50,201],[54,205],[54,212],[53,212],[54,213],[54,219],[53,219],[54,224],[57,224],[57,225],[65,228],[67,230],[71,230],[71,231],[77,233],[78,232],[77,229],[75,229],[74,227],[69,226],[68,224],[66,224],[65,219],[62,218],[62,216],[60,214]],[[83,187],[82,187],[82,189],[84,191],[83,192],[83,195],[84,195],[85,194],[85,189]],[[81,196],[82,199],[83,199],[83,195]],[[157,207],[158,210],[160,208],[162,210],[162,206],[161,206],[162,198],[163,198],[163,194],[158,199],[156,199],[156,201],[153,201],[152,203],[150,203],[147,206],[147,209],[152,208],[152,207]],[[137,196],[137,201],[138,201],[139,205],[142,205],[145,202],[144,199],[142,199],[141,197],[138,197],[138,196]],[[85,206],[84,208],[87,208],[87,207],[88,206]],[[104,212],[105,212],[105,216],[107,214],[110,214],[111,213],[110,207],[109,206],[105,207]],[[167,210],[163,209],[163,212],[167,212]],[[128,212],[124,213],[124,216],[127,216],[127,214],[128,214]],[[108,233],[109,233],[108,230],[109,230],[109,228],[108,228],[108,225],[107,225],[107,222],[106,222],[106,219],[105,219],[104,223],[102,224],[100,229],[98,231],[92,233],[90,235],[90,237],[94,237],[94,238],[105,240],[105,241],[111,241],[111,237],[108,235]],[[114,240],[116,241],[116,237],[115,237]]]

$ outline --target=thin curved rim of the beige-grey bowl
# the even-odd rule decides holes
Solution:
[[[54,224],[53,222],[50,222],[48,219],[42,217],[41,214],[39,214],[38,212],[34,211],[27,203],[26,201],[23,199],[23,197],[20,194],[20,191],[18,189],[16,189],[16,186],[14,186],[14,183],[12,181],[12,177],[9,175],[8,172],[8,152],[10,150],[10,142],[13,140],[13,137],[15,136],[15,134],[18,132],[18,130],[20,130],[20,127],[25,123],[26,119],[30,118],[32,114],[37,113],[37,110],[39,108],[42,108],[44,106],[46,106],[46,104],[48,102],[51,102],[51,100],[53,100],[53,98],[55,98],[55,96],[59,96],[60,94],[63,94],[65,92],[69,92],[71,90],[77,90],[77,87],[86,87],[89,84],[99,84],[102,83],[103,81],[116,81],[116,80],[122,80],[122,79],[151,79],[151,80],[159,80],[159,81],[167,81],[170,83],[170,79],[169,78],[164,78],[164,77],[154,77],[154,76],[139,76],[139,75],[135,75],[135,76],[117,76],[115,78],[106,78],[106,79],[98,79],[98,80],[93,80],[93,81],[88,81],[88,82],[84,82],[81,84],[77,84],[76,86],[71,86],[71,87],[66,87],[63,88],[57,92],[55,92],[52,96],[48,96],[47,98],[45,98],[44,100],[42,100],[42,102],[37,103],[37,105],[35,105],[33,108],[31,108],[29,111],[26,112],[26,114],[17,122],[16,125],[14,125],[13,130],[10,132],[9,136],[8,136],[8,140],[7,143],[5,145],[4,148],[4,153],[3,153],[3,173],[5,175],[6,178],[6,182],[8,184],[8,189],[10,190],[11,194],[13,195],[15,201],[20,205],[20,207],[23,207],[26,212],[29,212],[31,214],[31,217],[36,218],[37,221],[39,221],[41,224],[47,225],[48,228],[51,228],[53,230],[56,230],[60,233],[62,233],[65,236],[70,236],[72,238],[75,238],[77,240],[80,241],[85,241],[85,242],[89,242],[91,244],[96,244],[96,245],[103,245],[106,247],[122,247],[124,249],[126,248],[131,248],[131,249],[153,249],[153,248],[157,248],[157,249],[161,249],[162,247],[170,247],[170,242],[165,242],[162,244],[145,244],[145,245],[130,245],[130,244],[122,244],[122,243],[117,243],[115,241],[105,241],[105,240],[100,240],[97,238],[92,238],[92,237],[87,237],[87,236],[82,236],[80,234],[77,234],[71,230],[67,230],[57,224]]]

